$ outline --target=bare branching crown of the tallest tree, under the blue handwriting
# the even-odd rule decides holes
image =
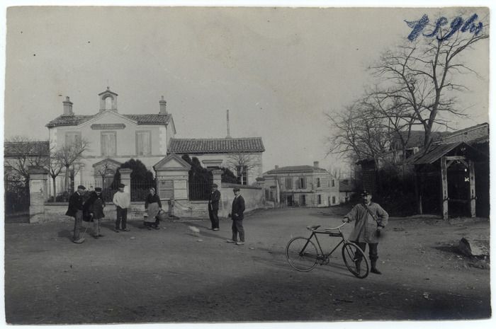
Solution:
[[[429,23],[427,16],[423,21],[408,22],[414,30],[422,25],[423,35],[383,53],[371,67],[373,74],[381,79],[381,91],[376,95],[401,104],[407,110],[402,117],[409,127],[422,125],[426,150],[432,144],[434,125],[449,127],[444,114],[464,115],[463,110],[456,108],[455,94],[466,90],[459,78],[475,72],[463,62],[462,54],[488,37],[488,25],[475,25],[477,18],[473,15],[463,21],[458,16],[451,25],[446,18]],[[475,26],[480,29],[475,30]]]

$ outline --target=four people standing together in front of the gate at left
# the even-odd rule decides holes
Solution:
[[[131,197],[128,192],[124,191],[125,185],[120,183],[118,191],[115,192],[112,202],[115,205],[115,228],[114,231],[128,232],[128,208],[131,204]],[[105,217],[103,209],[105,209],[105,200],[101,194],[101,187],[96,187],[94,191],[85,195],[86,187],[79,185],[77,191],[69,198],[69,207],[65,213],[69,217],[74,217],[74,233],[72,241],[74,243],[83,243],[84,236],[81,237],[81,226],[83,221],[93,222],[94,238],[101,238],[101,219]],[[147,229],[159,229],[159,212],[162,211],[162,203],[159,196],[155,193],[152,187],[149,190],[145,201],[145,219],[144,225]]]

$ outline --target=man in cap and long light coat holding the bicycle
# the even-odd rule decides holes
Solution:
[[[388,224],[389,215],[385,210],[374,202],[371,202],[372,195],[367,190],[361,192],[362,203],[356,204],[351,211],[344,216],[344,222],[355,221],[355,227],[349,236],[349,241],[356,243],[365,252],[368,243],[368,258],[371,260],[371,272],[382,274],[377,269],[377,246],[378,237],[381,231]],[[357,255],[359,256],[359,255]],[[356,268],[360,268],[361,258],[356,259]]]

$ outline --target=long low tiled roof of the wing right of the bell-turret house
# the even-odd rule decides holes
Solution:
[[[255,153],[265,151],[261,137],[219,139],[171,139],[169,152],[176,154]]]

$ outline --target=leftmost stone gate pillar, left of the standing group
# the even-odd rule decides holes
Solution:
[[[45,219],[45,201],[49,197],[47,190],[48,171],[45,168],[30,167],[29,173],[29,222],[38,223]]]

